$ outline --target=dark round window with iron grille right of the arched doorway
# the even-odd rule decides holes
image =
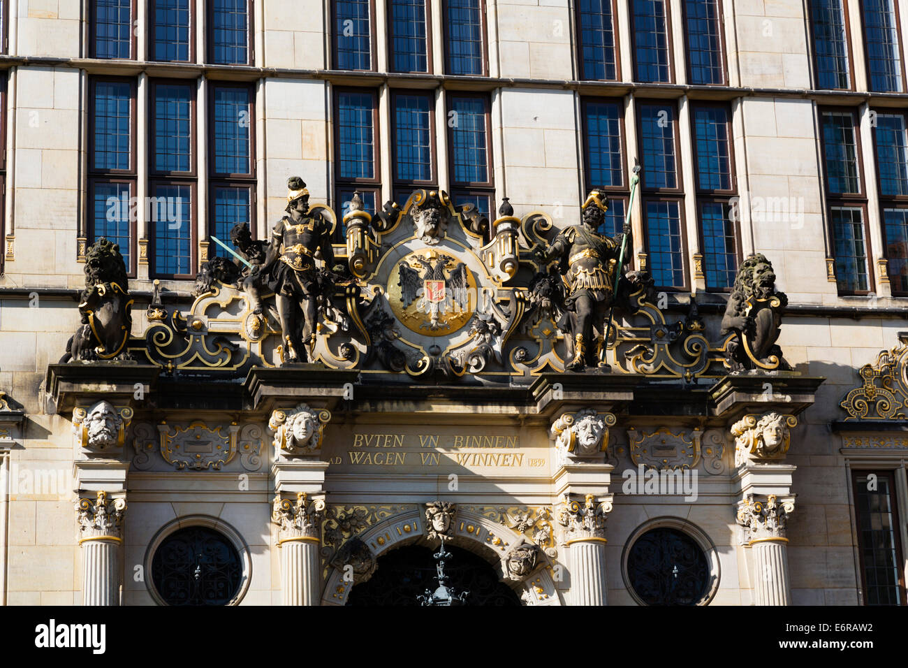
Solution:
[[[700,543],[670,526],[639,535],[627,552],[626,573],[631,592],[646,605],[706,603],[718,579]]]

